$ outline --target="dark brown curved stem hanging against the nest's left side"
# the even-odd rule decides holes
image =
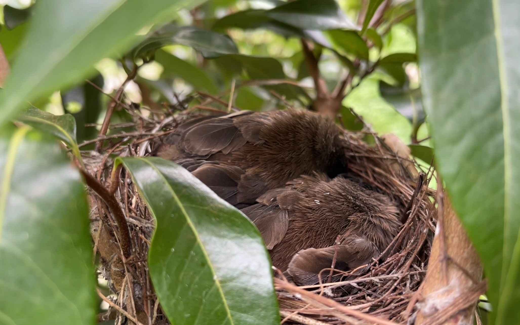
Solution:
[[[121,249],[123,251],[123,256],[125,258],[130,257],[132,255],[132,239],[130,238],[130,232],[128,230],[128,224],[126,223],[125,214],[123,209],[118,203],[118,200],[115,199],[113,194],[103,186],[99,181],[89,172],[85,171],[83,168],[80,168],[81,174],[85,177],[85,182],[87,185],[92,188],[99,197],[107,203],[112,215],[114,216],[115,222],[118,224],[120,236],[121,236]]]

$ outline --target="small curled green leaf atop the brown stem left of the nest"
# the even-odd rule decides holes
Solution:
[[[54,115],[32,107],[21,114],[18,121],[62,140],[81,160],[80,150],[76,143],[76,121],[71,114]]]

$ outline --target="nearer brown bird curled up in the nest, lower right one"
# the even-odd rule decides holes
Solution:
[[[343,175],[302,176],[257,201],[242,212],[261,232],[272,264],[302,285],[318,283],[334,254],[335,269],[371,263],[401,226],[394,202]]]

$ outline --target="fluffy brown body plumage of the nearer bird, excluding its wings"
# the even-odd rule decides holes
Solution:
[[[273,265],[282,271],[294,254],[332,246],[338,235],[342,244],[349,238],[363,238],[379,254],[400,227],[394,202],[341,176],[330,179],[316,173],[294,179],[268,206],[290,211],[285,236],[270,250]]]

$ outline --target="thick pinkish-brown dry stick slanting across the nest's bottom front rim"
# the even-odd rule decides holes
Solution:
[[[327,306],[330,308],[337,309],[348,316],[356,317],[358,319],[373,322],[373,323],[380,324],[380,325],[397,325],[397,323],[395,323],[393,321],[381,319],[379,317],[375,317],[372,315],[362,313],[361,311],[358,311],[358,310],[350,309],[332,299],[317,295],[315,293],[308,292],[307,290],[296,287],[296,285],[291,284],[289,282],[284,282],[278,278],[275,278],[275,284],[282,289],[285,289],[285,290],[291,291],[291,292],[296,292],[303,297],[307,297],[311,301],[317,302],[321,305],[324,305],[324,306]]]

